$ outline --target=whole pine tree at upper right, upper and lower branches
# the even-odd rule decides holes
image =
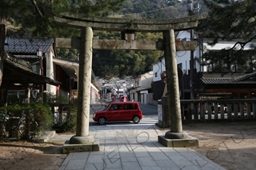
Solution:
[[[230,70],[246,72],[255,68],[254,45],[245,51],[245,45],[256,38],[256,2],[254,0],[203,0],[209,9],[208,17],[196,29],[201,38],[213,39],[209,45],[220,40],[235,41],[231,48],[204,53],[204,65],[214,64],[214,71]],[[236,41],[235,39],[239,39]],[[248,66],[249,64],[249,66]]]

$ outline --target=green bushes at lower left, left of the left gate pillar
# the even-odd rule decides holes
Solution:
[[[0,107],[0,112],[8,113],[8,115],[15,117],[22,117],[26,114],[29,115],[28,121],[31,124],[30,131],[33,131],[33,134],[43,134],[44,131],[50,130],[54,124],[51,106],[65,104],[67,105],[65,108],[67,111],[67,121],[60,128],[62,128],[62,131],[74,132],[77,125],[77,106],[74,104],[68,105],[67,97],[55,96],[49,93],[44,93],[44,97],[46,99],[45,104],[39,104],[36,102],[21,104],[17,101],[16,103],[8,105],[8,107]],[[13,97],[13,99],[15,99],[15,97]],[[32,124],[32,122],[37,122],[37,125]],[[22,138],[28,139],[25,136]]]

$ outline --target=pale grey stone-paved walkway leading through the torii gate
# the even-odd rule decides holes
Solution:
[[[165,133],[166,129],[155,125],[90,127],[90,135],[100,141],[100,151],[69,153],[59,170],[225,169],[189,148],[164,147],[158,143],[158,135]],[[55,135],[49,141],[71,136]]]

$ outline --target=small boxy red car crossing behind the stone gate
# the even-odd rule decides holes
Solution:
[[[116,121],[132,121],[138,123],[141,119],[142,112],[140,105],[134,101],[112,102],[105,110],[93,113],[93,120],[99,122],[100,125],[104,125],[106,122]]]

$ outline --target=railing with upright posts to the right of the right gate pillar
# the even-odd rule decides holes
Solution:
[[[256,119],[256,99],[181,100],[182,119]]]

